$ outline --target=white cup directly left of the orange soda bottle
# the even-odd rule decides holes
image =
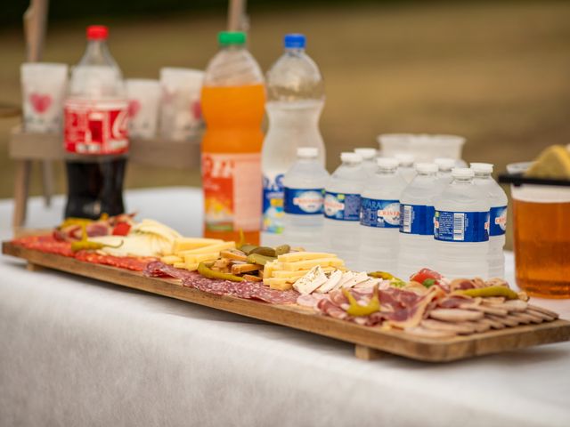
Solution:
[[[190,68],[161,68],[160,135],[188,141],[202,125],[199,94],[204,72]]]

